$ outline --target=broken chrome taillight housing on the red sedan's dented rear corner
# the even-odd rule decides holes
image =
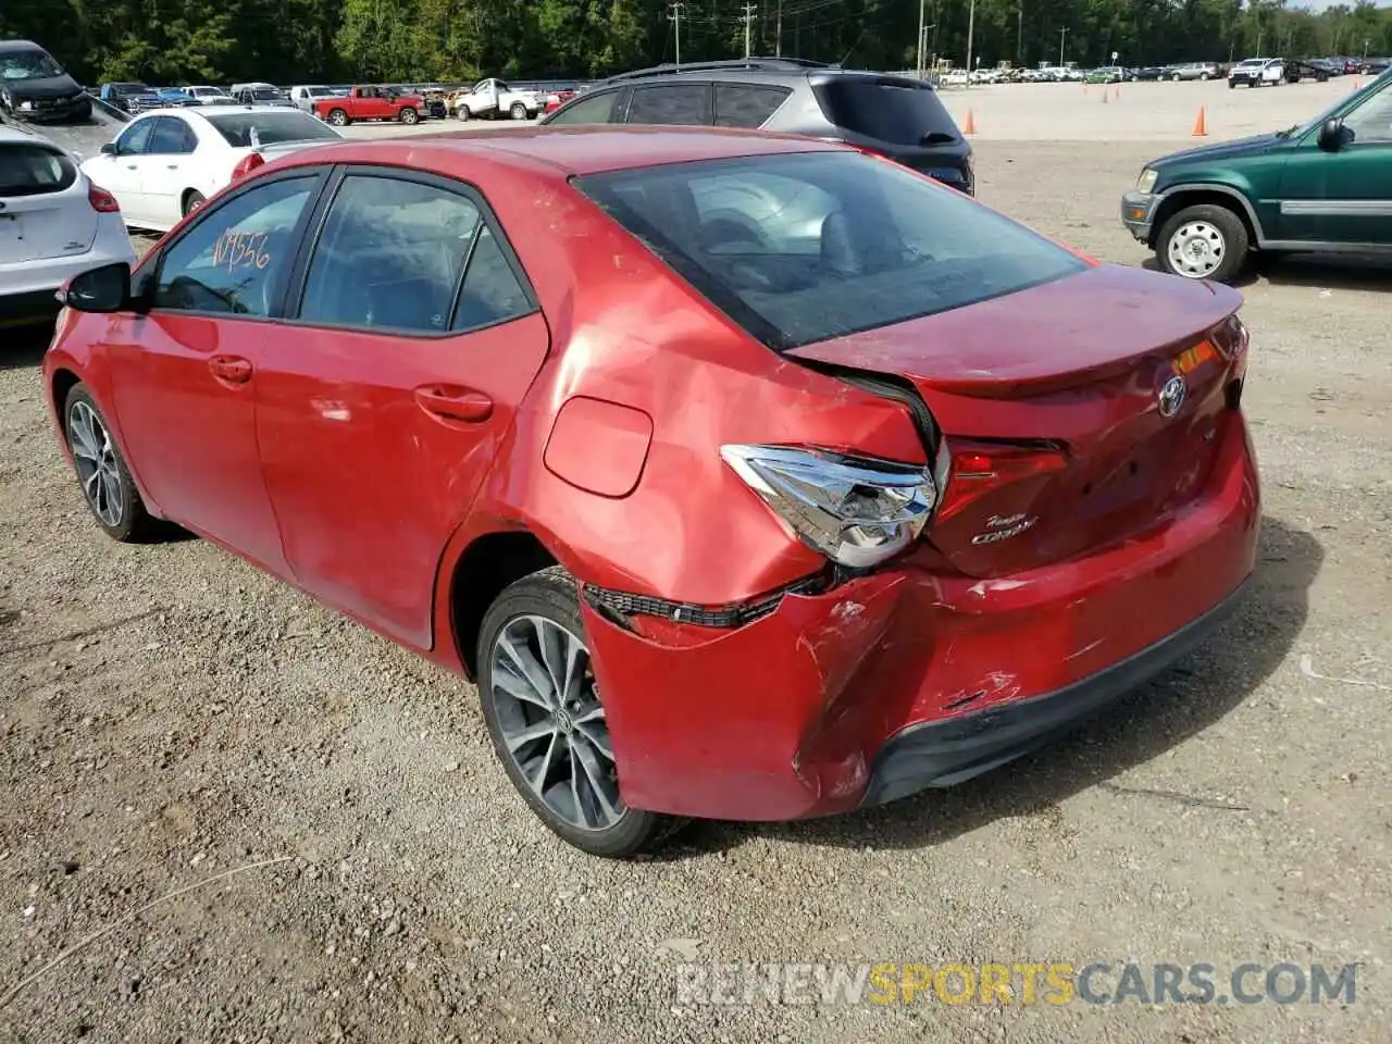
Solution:
[[[924,465],[789,445],[724,445],[720,455],[795,537],[853,569],[913,543],[938,503]]]

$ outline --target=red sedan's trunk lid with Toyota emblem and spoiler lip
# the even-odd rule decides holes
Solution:
[[[1232,430],[1242,359],[1225,323],[1240,305],[1226,287],[1097,266],[789,355],[915,386],[952,452],[926,539],[963,574],[1001,576],[1201,494]]]

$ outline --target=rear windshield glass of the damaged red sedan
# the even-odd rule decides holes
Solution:
[[[1087,267],[970,198],[859,153],[640,167],[575,185],[775,349]]]

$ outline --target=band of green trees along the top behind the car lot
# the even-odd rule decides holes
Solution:
[[[876,70],[924,60],[1080,65],[1392,54],[1392,7],[1286,0],[11,0],[0,39],[86,84],[590,79],[784,54]],[[679,43],[678,43],[679,38]]]

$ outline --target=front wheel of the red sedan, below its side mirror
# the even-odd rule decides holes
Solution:
[[[63,402],[63,437],[88,509],[113,540],[141,543],[155,530],[131,469],[86,384],[74,384]]]

